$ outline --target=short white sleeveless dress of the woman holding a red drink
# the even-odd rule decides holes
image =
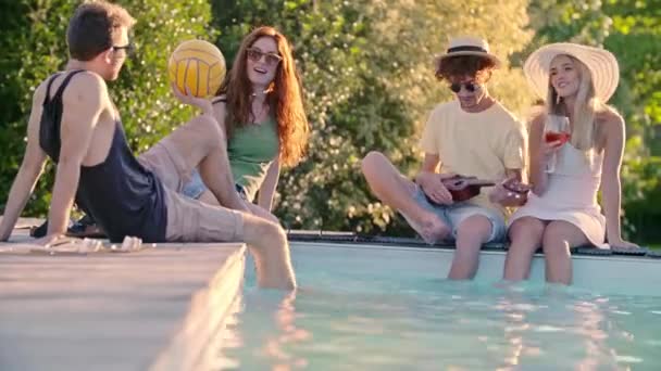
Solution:
[[[564,220],[576,226],[597,247],[609,248],[604,243],[606,218],[597,203],[601,184],[603,155],[593,158],[564,143],[557,153],[553,172],[548,174],[546,192],[538,196],[531,192],[528,201],[510,218],[531,216],[542,220]]]

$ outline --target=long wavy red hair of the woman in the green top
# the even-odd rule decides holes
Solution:
[[[283,57],[271,84],[267,102],[275,112],[279,138],[280,164],[294,166],[305,154],[310,127],[303,111],[302,84],[296,71],[291,48],[287,38],[275,28],[262,26],[244,38],[234,60],[232,72],[219,94],[226,95],[227,119],[225,127],[230,140],[233,131],[252,121],[252,84],[247,73],[247,50],[262,37],[271,37]]]

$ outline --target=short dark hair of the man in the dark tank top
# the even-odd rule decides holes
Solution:
[[[66,42],[72,59],[90,61],[112,47],[121,27],[130,29],[136,21],[128,12],[107,1],[85,2],[68,21]]]

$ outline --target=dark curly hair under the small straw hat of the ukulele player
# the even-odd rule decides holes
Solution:
[[[436,78],[452,80],[454,77],[472,77],[477,82],[486,82],[491,77],[496,63],[479,55],[457,55],[442,59],[436,68]]]

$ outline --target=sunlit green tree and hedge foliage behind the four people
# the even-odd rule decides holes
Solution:
[[[661,1],[638,0],[117,0],[138,18],[137,55],[111,92],[130,144],[142,151],[190,117],[172,98],[165,64],[179,41],[215,40],[229,64],[245,35],[273,25],[292,42],[312,125],[309,155],[283,174],[276,214],[291,228],[410,233],[369,191],[361,158],[384,152],[406,175],[420,166],[427,113],[451,99],[433,57],[452,36],[489,40],[504,64],[489,85],[524,115],[535,99],[520,66],[552,41],[604,46],[621,64],[611,103],[627,121],[623,166],[629,232],[638,239],[661,212]],[[30,95],[66,61],[64,30],[79,1],[5,1],[0,12],[0,202],[20,166]],[[28,214],[43,215],[45,177]],[[650,202],[650,200],[652,202]],[[646,202],[647,201],[647,202]],[[2,205],[0,205],[1,208]]]

